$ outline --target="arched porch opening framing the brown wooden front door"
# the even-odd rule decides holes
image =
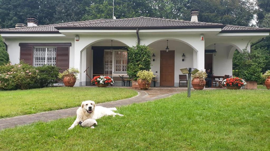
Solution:
[[[168,40],[168,52],[166,52]],[[180,68],[196,66],[193,53],[197,54],[193,46],[178,39],[161,39],[148,45],[152,48],[155,61],[152,60],[151,69],[157,77],[157,86],[186,86],[185,81],[179,84]],[[183,59],[184,54],[184,60]],[[183,83],[182,83],[183,82]]]

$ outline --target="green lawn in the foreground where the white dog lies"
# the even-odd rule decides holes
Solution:
[[[204,90],[120,107],[95,129],[75,117],[0,131],[0,150],[270,150],[267,90]]]

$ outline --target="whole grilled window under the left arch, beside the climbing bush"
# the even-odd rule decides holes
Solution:
[[[113,72],[127,72],[127,51],[110,50],[104,51],[104,74],[110,75]]]

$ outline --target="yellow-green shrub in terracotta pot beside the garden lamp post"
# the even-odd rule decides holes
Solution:
[[[205,87],[206,81],[205,78],[207,77],[207,74],[205,71],[198,71],[194,75],[192,75],[192,87],[195,90],[202,90]]]

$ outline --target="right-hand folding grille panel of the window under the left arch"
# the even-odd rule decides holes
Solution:
[[[114,71],[127,72],[127,51],[114,51]]]

